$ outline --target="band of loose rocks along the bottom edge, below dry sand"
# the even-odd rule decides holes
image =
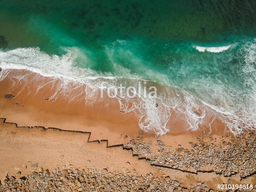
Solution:
[[[16,180],[6,176],[2,191],[215,191],[198,182],[197,186],[184,187],[169,176],[153,174],[108,172],[108,169],[55,169],[41,170]]]

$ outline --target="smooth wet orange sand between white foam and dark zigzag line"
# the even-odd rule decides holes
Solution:
[[[30,82],[25,82],[25,79],[13,79],[12,77],[15,77],[15,75],[25,76]],[[95,94],[93,95],[93,100],[86,100],[87,93],[85,90],[88,88],[85,84],[81,85],[79,88],[72,87],[71,85],[71,87],[69,86],[69,90],[65,90],[63,93],[61,93],[61,89],[63,88],[58,88],[58,84],[59,80],[42,77],[39,74],[29,71],[11,71],[7,77],[0,81],[0,89],[2,90],[0,95],[2,117],[24,126],[33,126],[33,123],[26,124],[31,121],[33,122],[33,119],[36,119],[34,125],[59,126],[59,124],[56,124],[54,121],[60,123],[63,119],[67,119],[70,116],[74,121],[78,122],[77,124],[79,125],[77,125],[78,128],[76,129],[79,130],[83,129],[80,124],[86,124],[89,126],[97,125],[97,127],[107,126],[108,129],[104,130],[104,132],[108,132],[109,130],[119,132],[119,129],[121,129],[122,131],[120,132],[133,136],[135,136],[133,134],[134,132],[136,134],[143,132],[139,127],[139,118],[141,117],[137,115],[138,112],[121,113],[117,99],[108,97],[100,98],[99,95]],[[7,93],[13,94],[14,98],[9,100],[5,99],[4,97]],[[20,109],[20,106],[22,106],[22,109]],[[23,116],[26,114],[29,118],[26,119],[24,117],[26,119],[24,121],[19,120],[18,117],[14,118],[12,111],[16,111],[16,113],[20,113],[20,115]],[[196,112],[201,113],[198,110],[196,110]],[[36,115],[37,113],[40,115]],[[170,127],[170,131],[166,133],[167,135],[210,134],[231,136],[232,134],[228,133],[229,130],[226,130],[225,125],[218,118],[211,121],[211,129],[207,126],[200,125],[199,129],[194,131],[189,128],[190,125],[184,115],[177,113],[175,109],[173,109],[171,113],[172,115],[166,123],[166,126]],[[60,116],[66,117],[62,119]],[[51,123],[45,124],[45,122],[48,121],[51,121]],[[60,126],[65,129],[70,129],[67,127],[67,124],[60,124]],[[71,124],[71,126],[75,128],[76,124]],[[129,129],[132,130],[127,131]],[[153,130],[146,134],[153,135]]]

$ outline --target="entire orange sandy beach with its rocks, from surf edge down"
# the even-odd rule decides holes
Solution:
[[[255,187],[254,132],[234,137],[218,120],[210,134],[203,127],[185,131],[180,121],[175,125],[181,131],[156,137],[139,129],[135,114],[120,112],[114,99],[89,104],[82,95],[71,102],[67,101],[70,95],[49,99],[54,92],[50,83],[37,91],[38,81],[13,83],[11,77],[18,73],[38,78],[13,70],[0,82],[3,191],[219,191],[218,184]],[[51,82],[46,77],[41,81]]]

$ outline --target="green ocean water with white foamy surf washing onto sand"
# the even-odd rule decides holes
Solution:
[[[157,98],[120,98],[144,131],[186,129],[221,119],[234,133],[256,125],[256,1],[0,1],[0,67],[27,69],[69,83],[148,82]],[[26,77],[19,77],[25,79]],[[92,91],[94,90],[94,91]],[[85,98],[85,99],[88,99]]]

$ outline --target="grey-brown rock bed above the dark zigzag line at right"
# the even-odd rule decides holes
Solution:
[[[218,140],[218,141],[217,141]],[[146,157],[153,165],[184,170],[191,173],[215,172],[224,177],[238,175],[241,179],[255,174],[256,136],[255,132],[238,137],[197,137],[197,142],[189,142],[190,149],[165,146],[157,140],[157,152],[153,153],[152,143],[143,138],[131,140],[125,145],[133,148],[134,154]]]

